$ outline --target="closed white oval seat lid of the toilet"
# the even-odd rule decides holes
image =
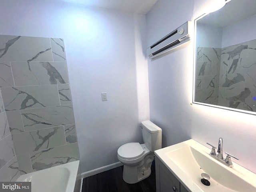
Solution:
[[[140,143],[126,143],[118,148],[117,151],[120,158],[136,159],[144,154],[144,149]]]

